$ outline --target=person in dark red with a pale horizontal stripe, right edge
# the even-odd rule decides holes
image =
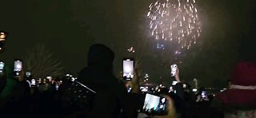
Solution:
[[[225,117],[256,117],[256,63],[239,62],[230,78],[230,87],[218,93],[213,106]]]

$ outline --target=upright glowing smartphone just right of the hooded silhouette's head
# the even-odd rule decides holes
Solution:
[[[126,81],[130,81],[134,77],[134,59],[124,58],[122,60],[122,77]]]

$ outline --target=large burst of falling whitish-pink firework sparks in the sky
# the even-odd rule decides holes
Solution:
[[[195,0],[158,0],[151,3],[150,34],[156,40],[175,41],[190,49],[201,33]]]

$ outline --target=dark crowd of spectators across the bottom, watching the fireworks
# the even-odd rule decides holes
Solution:
[[[1,117],[256,117],[255,61],[239,62],[231,73],[230,85],[216,96],[202,94],[203,89],[192,93],[189,86],[183,86],[178,70],[174,91],[154,91],[166,98],[162,99],[167,101],[163,115],[141,111],[145,92],[140,89],[137,69],[134,78],[126,82],[114,76],[113,61],[114,52],[106,45],[91,45],[87,66],[78,73],[78,79],[63,78],[61,85],[52,81],[31,85],[24,73],[14,77],[14,69],[5,65],[0,76]]]

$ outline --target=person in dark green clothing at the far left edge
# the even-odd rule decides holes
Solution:
[[[1,91],[0,114],[1,117],[29,116],[29,86],[24,80],[23,73],[14,77],[14,69],[4,67],[6,85]],[[11,113],[15,112],[15,113]]]

